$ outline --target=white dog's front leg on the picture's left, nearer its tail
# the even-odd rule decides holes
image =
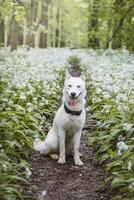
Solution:
[[[58,163],[64,164],[65,163],[65,131],[59,130],[59,143],[60,143],[60,156]]]

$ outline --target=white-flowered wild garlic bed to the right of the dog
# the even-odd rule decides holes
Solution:
[[[134,196],[134,55],[102,52],[89,63],[89,99],[97,160],[105,166],[111,199]],[[93,66],[94,65],[94,66]]]

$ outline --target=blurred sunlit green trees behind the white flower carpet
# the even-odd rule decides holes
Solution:
[[[133,0],[0,0],[0,46],[134,50]]]

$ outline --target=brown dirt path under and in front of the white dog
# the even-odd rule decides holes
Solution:
[[[89,125],[88,125],[89,127]],[[31,183],[36,187],[32,199],[40,200],[108,200],[103,192],[97,192],[102,180],[101,169],[93,164],[93,148],[86,144],[88,134],[83,131],[81,153],[84,166],[74,166],[72,158],[67,158],[64,165],[50,157],[34,154],[30,159],[33,168]],[[38,198],[44,191],[44,197]],[[29,194],[30,195],[30,194]]]

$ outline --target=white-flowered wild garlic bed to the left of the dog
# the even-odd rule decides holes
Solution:
[[[35,64],[18,52],[0,59],[0,199],[22,199],[30,188],[26,160],[33,140],[45,138],[60,102],[63,70]]]

